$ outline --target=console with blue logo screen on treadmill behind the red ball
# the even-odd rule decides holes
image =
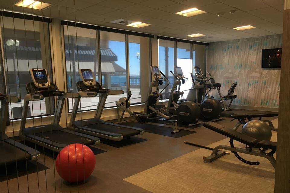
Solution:
[[[47,75],[46,69],[31,68],[30,75],[36,87],[48,88],[50,86],[50,79],[49,76]]]

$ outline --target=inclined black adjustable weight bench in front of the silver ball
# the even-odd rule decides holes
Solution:
[[[252,138],[250,136],[247,136],[245,134],[242,134],[238,131],[235,131],[230,128],[226,128],[222,125],[219,125],[214,122],[205,122],[203,124],[205,128],[211,129],[212,131],[215,131],[219,134],[222,134],[224,136],[227,136],[230,138],[230,146],[227,145],[219,145],[214,148],[211,155],[204,158],[205,163],[211,163],[212,161],[218,159],[219,157],[226,154],[223,150],[230,150],[234,155],[243,163],[249,164],[249,165],[259,165],[260,163],[258,161],[252,162],[243,159],[238,153],[245,153],[250,154],[254,156],[259,157],[265,157],[270,161],[272,166],[275,168],[276,160],[273,157],[273,154],[276,152],[276,142],[273,141],[260,141],[258,142],[257,139]],[[234,147],[234,140],[239,141],[240,143],[243,143],[246,145],[246,148],[240,148],[240,147]],[[259,150],[253,150],[252,148],[259,148]],[[267,149],[271,149],[269,153],[266,152]]]

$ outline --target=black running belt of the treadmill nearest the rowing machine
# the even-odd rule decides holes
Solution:
[[[119,126],[105,124],[105,123],[96,123],[96,124],[92,124],[92,125],[85,125],[84,127],[82,127],[82,129],[85,129],[86,127],[95,128],[95,129],[98,129],[101,131],[107,131],[110,133],[118,133],[118,134],[121,134],[123,137],[130,137],[130,136],[140,134],[140,131],[135,130],[135,129],[129,129],[129,128],[125,128],[122,126],[119,127]]]

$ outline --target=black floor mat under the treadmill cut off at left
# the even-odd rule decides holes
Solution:
[[[6,173],[7,168],[7,173]],[[6,165],[0,167],[0,182],[6,181],[7,179],[13,179],[21,176],[26,176],[27,174],[32,174],[35,172],[40,172],[45,169],[49,169],[47,166],[38,163],[37,161],[27,161],[27,170],[26,170],[26,163],[21,162],[17,163],[17,170],[16,170],[16,163],[11,163],[10,165]]]

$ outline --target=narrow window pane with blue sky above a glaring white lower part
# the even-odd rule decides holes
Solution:
[[[184,77],[188,78],[184,84],[181,84],[180,91],[188,90],[192,85],[192,55],[191,55],[191,43],[177,42],[177,62],[176,65],[181,67]],[[185,91],[183,98],[186,98],[188,91]]]

